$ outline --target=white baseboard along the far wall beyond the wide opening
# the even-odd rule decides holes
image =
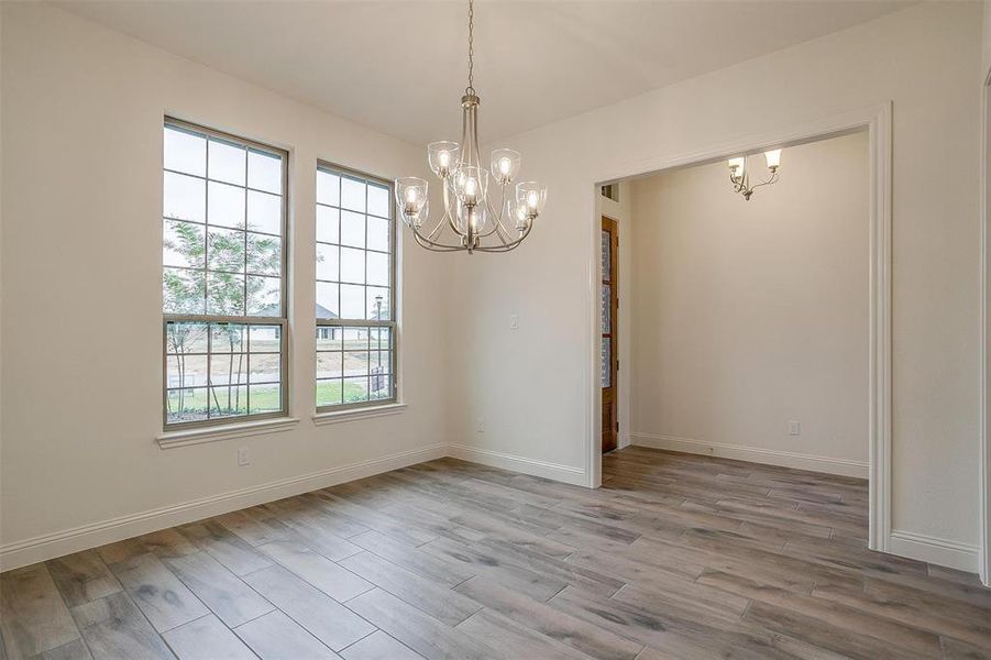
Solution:
[[[658,436],[654,433],[630,433],[634,446],[649,447],[651,449],[667,449],[685,453],[719,457],[720,459],[736,459],[751,463],[766,463],[811,472],[825,472],[826,474],[839,474],[843,476],[856,476],[867,479],[870,465],[866,461],[850,461],[847,459],[833,459],[829,457],[816,457],[801,454],[777,449],[760,449],[757,447],[744,447],[740,444],[724,444],[720,442],[704,442],[691,438],[676,438],[674,436]]]

